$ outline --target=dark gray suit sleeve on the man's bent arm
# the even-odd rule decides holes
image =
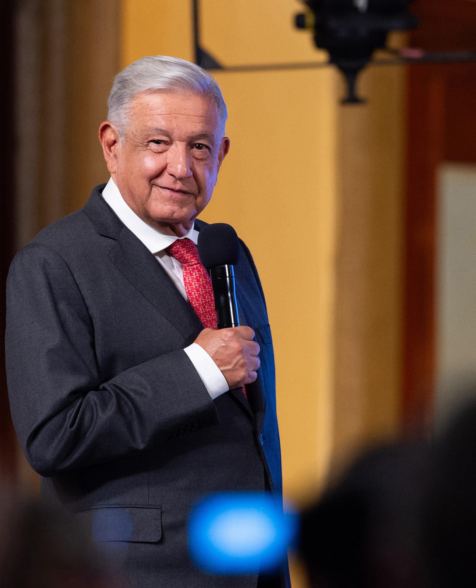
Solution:
[[[44,476],[218,423],[183,349],[101,382],[81,291],[62,257],[43,245],[27,246],[10,268],[6,368],[16,432]]]

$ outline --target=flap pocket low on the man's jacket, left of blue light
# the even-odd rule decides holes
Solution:
[[[158,543],[162,537],[160,506],[98,506],[77,513],[97,542]]]

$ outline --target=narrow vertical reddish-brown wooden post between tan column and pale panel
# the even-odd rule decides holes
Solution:
[[[427,421],[434,387],[435,171],[444,151],[445,76],[408,71],[404,415]]]

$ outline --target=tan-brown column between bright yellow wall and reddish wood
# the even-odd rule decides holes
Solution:
[[[362,106],[342,106],[335,289],[334,456],[398,431],[404,69],[367,69]],[[350,453],[349,453],[350,452]]]

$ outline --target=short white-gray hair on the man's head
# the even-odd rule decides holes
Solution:
[[[155,55],[134,61],[114,78],[108,98],[108,121],[114,124],[121,139],[124,139],[129,106],[135,96],[141,92],[160,90],[209,96],[217,105],[222,134],[225,134],[227,105],[213,76],[185,59]]]

